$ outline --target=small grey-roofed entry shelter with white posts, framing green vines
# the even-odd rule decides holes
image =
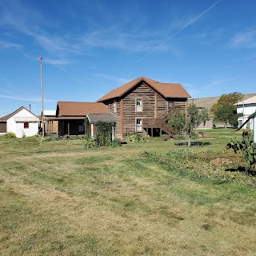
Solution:
[[[95,123],[98,121],[101,122],[111,122],[112,125],[112,140],[114,140],[114,125],[115,125],[115,118],[114,114],[87,114],[87,118],[90,122],[90,131],[91,131],[91,137],[94,137],[95,133]]]

